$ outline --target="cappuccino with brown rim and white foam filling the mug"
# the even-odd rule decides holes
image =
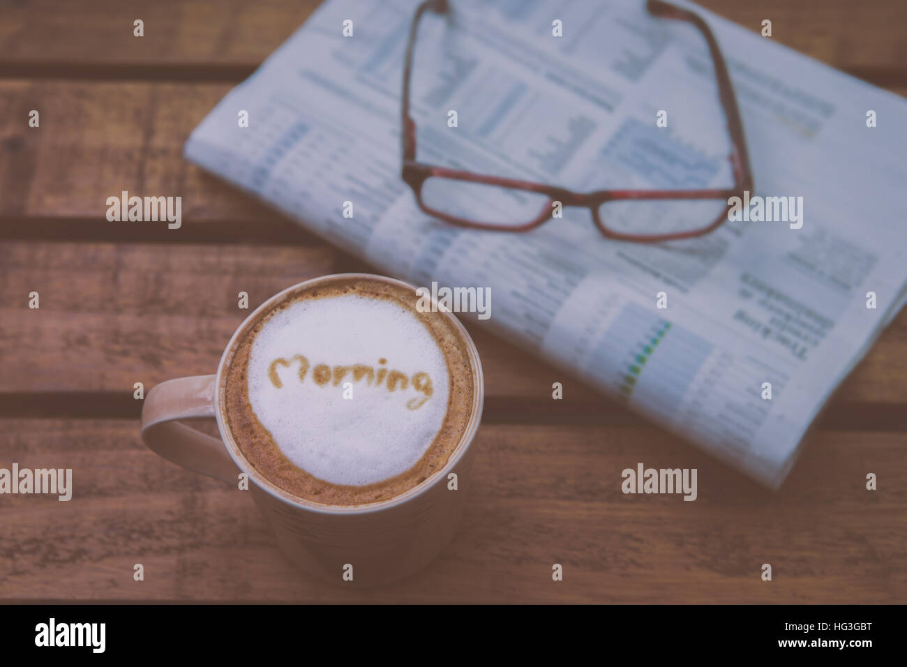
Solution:
[[[405,493],[441,470],[473,409],[476,369],[451,316],[363,276],[300,286],[239,333],[229,430],[258,473],[323,505]]]

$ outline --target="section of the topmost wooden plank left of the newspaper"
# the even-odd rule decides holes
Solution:
[[[6,4],[5,64],[256,66],[318,0],[30,0]],[[144,21],[144,36],[133,22]]]

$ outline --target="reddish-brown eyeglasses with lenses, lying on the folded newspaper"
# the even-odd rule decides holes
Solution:
[[[413,50],[419,20],[426,11],[444,15],[447,0],[426,0],[415,10],[403,73],[403,180],[419,207],[442,221],[492,231],[530,231],[551,220],[561,207],[589,208],[592,221],[610,239],[641,243],[688,239],[715,230],[727,220],[730,197],[753,190],[746,138],[734,88],[715,35],[694,12],[661,0],[649,0],[650,15],[687,21],[705,37],[717,76],[732,152],[734,186],[711,190],[597,190],[574,192],[545,183],[465,172],[415,159],[415,123],[409,113]],[[632,130],[632,128],[630,128]],[[632,140],[629,140],[632,141]],[[642,202],[642,203],[640,203]]]

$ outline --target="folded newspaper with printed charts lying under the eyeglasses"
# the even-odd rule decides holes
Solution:
[[[780,486],[907,299],[907,103],[692,5],[727,60],[753,197],[793,198],[786,219],[744,211],[658,244],[606,239],[583,209],[530,233],[467,230],[421,211],[400,178],[416,4],[328,0],[192,132],[186,157],[390,275],[491,288],[481,326]],[[426,15],[415,47],[421,162],[575,191],[732,182],[695,28],[641,1],[451,5]]]

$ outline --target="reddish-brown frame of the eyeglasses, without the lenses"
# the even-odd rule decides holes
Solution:
[[[552,204],[554,201],[561,201],[562,206],[585,206],[592,213],[592,220],[599,231],[609,239],[629,240],[638,243],[655,243],[665,240],[688,239],[691,237],[707,234],[714,231],[719,225],[727,221],[727,209],[723,211],[715,221],[707,227],[694,231],[679,231],[672,234],[625,234],[619,231],[610,230],[602,221],[599,214],[599,207],[608,201],[619,200],[725,200],[729,197],[743,197],[743,191],[753,190],[753,175],[749,167],[749,153],[746,151],[746,137],[743,131],[743,123],[740,122],[740,111],[737,108],[734,87],[731,84],[730,76],[727,74],[727,64],[718,48],[715,35],[709,29],[706,22],[701,16],[694,12],[663,2],[662,0],[648,0],[646,9],[650,15],[660,18],[672,18],[679,21],[688,21],[696,25],[699,32],[705,37],[708,44],[708,50],[712,55],[712,61],[715,65],[715,74],[718,82],[718,94],[721,104],[724,107],[725,118],[727,120],[727,132],[730,134],[732,143],[732,152],[730,154],[731,168],[734,173],[734,186],[727,189],[716,190],[597,190],[592,192],[574,192],[559,188],[545,183],[535,183],[531,181],[518,181],[499,176],[490,176],[473,172],[463,172],[456,169],[424,164],[415,159],[415,122],[409,114],[410,98],[410,78],[413,69],[413,49],[415,45],[415,35],[419,25],[419,20],[426,11],[433,11],[435,14],[444,15],[449,11],[450,5],[448,0],[425,0],[415,10],[413,23],[409,29],[409,42],[406,44],[406,55],[403,70],[403,132],[401,140],[403,143],[403,180],[413,189],[415,199],[419,208],[435,218],[450,222],[451,224],[470,229],[489,230],[489,231],[530,231],[542,223],[551,220]],[[541,192],[549,197],[546,207],[541,210],[539,217],[523,225],[506,225],[496,223],[483,223],[465,220],[453,215],[448,215],[442,211],[435,211],[427,206],[422,200],[422,187],[424,182],[431,177],[440,177],[452,179],[455,181],[471,181],[483,183],[486,185],[497,185],[514,190]]]

